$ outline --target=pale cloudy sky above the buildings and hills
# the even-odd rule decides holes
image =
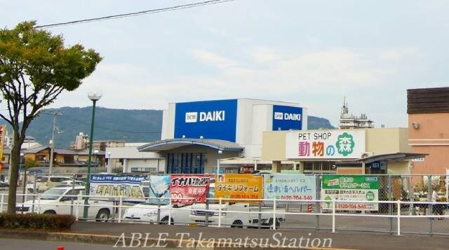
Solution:
[[[203,0],[198,0],[203,1]],[[195,1],[6,1],[1,27],[145,11]],[[407,125],[406,90],[449,83],[449,1],[236,0],[50,28],[104,60],[51,107],[166,109],[169,102],[255,98],[300,102],[337,125],[349,111]]]

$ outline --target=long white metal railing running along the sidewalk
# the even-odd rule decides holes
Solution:
[[[22,196],[23,194],[18,194]],[[118,223],[130,223],[135,222],[132,219],[124,218],[124,214],[127,209],[130,209],[135,204],[127,202],[126,197],[117,196],[102,196],[102,195],[64,195],[64,197],[72,198],[67,202],[58,202],[57,205],[43,204],[47,196],[38,194],[25,194],[29,201],[24,201],[16,204],[19,209],[21,207],[27,207],[27,211],[22,213],[45,213],[46,209],[51,206],[55,207],[69,207],[65,209],[64,214],[72,214],[76,216],[76,220],[88,220],[88,221],[113,221]],[[0,211],[3,211],[4,205],[7,203],[6,194],[0,194]],[[110,214],[107,218],[98,218],[95,214],[84,217],[82,214],[84,207],[84,199],[88,198],[90,203],[87,205],[91,211],[100,211],[101,209],[109,209]],[[59,198],[57,199],[59,200]],[[267,200],[267,199],[226,199],[226,198],[208,198],[206,204],[194,204],[192,206],[175,207],[172,202],[173,199],[160,198],[159,204],[154,204],[152,209],[156,209],[156,219],[154,221],[140,220],[140,223],[166,223],[171,225],[172,223],[179,223],[173,221],[173,216],[176,213],[182,211],[189,215],[189,218],[193,216],[194,211],[201,211],[203,213],[203,223],[195,223],[193,218],[191,221],[185,224],[198,224],[204,226],[233,226],[233,223],[229,223],[229,217],[232,218],[232,214],[239,215],[242,218],[252,218],[253,221],[246,223],[247,225],[234,225],[236,227],[253,227],[253,228],[271,228],[276,230],[279,228],[312,228],[316,230],[331,230],[336,232],[339,230],[362,230],[370,232],[389,232],[391,234],[401,235],[406,234],[428,234],[428,235],[449,235],[449,223],[448,221],[436,221],[436,218],[449,219],[449,214],[435,215],[434,209],[443,209],[448,211],[449,202],[406,202],[406,201],[356,201],[356,200]],[[177,198],[180,200],[180,198]],[[55,200],[56,201],[56,200]],[[95,204],[95,201],[100,202]],[[164,203],[163,201],[168,201]],[[229,203],[231,202],[231,203]],[[236,203],[234,203],[236,202]],[[236,204],[243,202],[248,205],[248,209],[245,211],[241,209],[233,209],[238,207]],[[288,204],[280,204],[288,202]],[[355,211],[337,209],[338,204],[387,204],[391,206],[391,213],[378,213],[376,211]],[[295,206],[307,204],[314,206],[314,209],[310,211],[303,211],[303,209],[295,209]],[[323,209],[323,205],[330,207],[330,209]],[[210,207],[214,206],[215,209]],[[426,207],[427,211],[424,215],[415,215],[414,209],[410,207]],[[251,210],[253,208],[253,210]],[[99,210],[100,209],[100,210]],[[168,210],[168,213],[166,212]],[[58,211],[55,211],[58,213]],[[256,216],[253,216],[256,215]],[[253,216],[253,217],[251,217]],[[168,219],[167,219],[168,217]],[[201,218],[201,216],[197,216]],[[213,218],[211,221],[210,218]],[[216,219],[215,219],[216,218]],[[262,223],[262,221],[271,221],[269,223]],[[182,224],[182,223],[180,223]]]

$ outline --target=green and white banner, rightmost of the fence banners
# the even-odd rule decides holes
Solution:
[[[323,175],[322,200],[379,200],[379,177],[375,175]],[[333,209],[332,202],[324,202],[323,209]],[[377,211],[377,203],[336,202],[337,210]]]

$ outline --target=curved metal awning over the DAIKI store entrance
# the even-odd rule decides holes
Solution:
[[[138,147],[140,152],[160,152],[169,151],[182,146],[207,146],[221,151],[241,152],[243,147],[232,141],[218,140],[218,139],[166,139],[161,141],[154,141],[144,146]]]

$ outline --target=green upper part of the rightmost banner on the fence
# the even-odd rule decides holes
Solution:
[[[378,189],[377,175],[323,175],[323,189]]]

